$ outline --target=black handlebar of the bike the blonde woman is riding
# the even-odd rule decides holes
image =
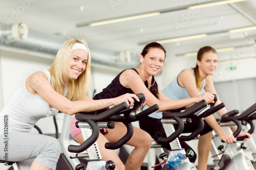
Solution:
[[[137,102],[134,99],[134,106],[131,109],[126,109],[127,104],[126,103],[121,103],[120,105],[117,105],[109,110],[104,111],[103,113],[97,114],[97,115],[92,115],[96,112],[79,112],[76,114],[76,119],[79,120],[80,122],[87,122],[91,128],[92,128],[92,135],[83,143],[80,145],[69,145],[68,150],[69,152],[74,152],[74,153],[80,153],[85,150],[87,150],[98,138],[99,136],[99,127],[96,122],[102,122],[102,121],[116,121],[116,122],[123,122],[123,124],[127,128],[126,134],[119,139],[115,143],[110,143],[107,142],[105,143],[105,148],[106,149],[118,149],[120,148],[123,144],[125,144],[127,141],[129,141],[133,135],[133,125],[131,122],[137,121],[138,119],[142,118],[143,116],[149,115],[153,113],[154,111],[159,109],[158,105],[154,105],[142,112],[140,112],[137,115],[131,115],[130,113],[134,110],[137,110],[139,106],[145,101],[145,96],[144,94],[136,94],[139,98],[139,102]],[[124,110],[126,109],[126,110]],[[124,111],[123,111],[124,110]],[[88,115],[90,114],[90,115]],[[120,114],[124,114],[124,116],[120,116]]]

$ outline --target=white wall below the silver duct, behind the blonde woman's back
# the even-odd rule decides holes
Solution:
[[[52,62],[49,59],[7,51],[1,51],[0,60],[4,105],[29,75],[37,70],[49,69]]]

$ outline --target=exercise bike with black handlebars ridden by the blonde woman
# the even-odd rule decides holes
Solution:
[[[63,169],[63,167],[65,167],[65,169],[114,169],[114,163],[112,161],[105,162],[105,160],[101,158],[96,142],[99,135],[99,128],[114,128],[114,123],[110,121],[122,122],[127,128],[127,133],[116,143],[105,143],[106,149],[118,149],[127,141],[129,141],[133,135],[132,122],[137,121],[143,116],[147,116],[159,109],[158,105],[154,105],[140,112],[139,114],[132,115],[131,112],[137,110],[145,100],[144,94],[140,93],[137,94],[137,96],[140,102],[135,102],[134,106],[130,107],[129,109],[123,110],[124,106],[124,108],[127,108],[127,105],[124,103],[122,104],[122,109],[115,110],[114,112],[111,111],[112,113],[110,113],[110,110],[121,107],[121,104],[120,106],[115,106],[100,114],[98,114],[100,111],[97,113],[93,112],[93,114],[96,113],[97,115],[92,115],[91,113],[77,113],[76,119],[80,122],[77,122],[76,126],[81,128],[81,132],[85,141],[80,145],[69,145],[69,136],[67,136],[67,134],[60,136],[63,154],[61,156],[61,160],[58,161],[57,169]],[[68,119],[66,119],[66,121],[68,122]],[[86,150],[87,152],[84,152]],[[71,155],[72,153],[76,154]],[[86,161],[81,163],[81,160]],[[65,163],[63,165],[59,162]]]

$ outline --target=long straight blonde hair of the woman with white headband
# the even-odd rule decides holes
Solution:
[[[66,97],[72,101],[81,100],[84,96],[89,94],[91,81],[91,55],[86,44],[84,44],[88,49],[86,69],[76,80],[70,79],[70,58],[72,48],[76,43],[84,44],[82,41],[74,38],[66,40],[59,48],[50,68],[51,85],[53,89],[63,95],[65,89],[63,87],[67,87]]]

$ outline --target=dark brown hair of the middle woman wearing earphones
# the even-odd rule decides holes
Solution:
[[[164,47],[163,47],[160,43],[158,43],[158,42],[151,42],[151,43],[148,43],[148,44],[143,48],[143,51],[141,52],[141,55],[144,57],[144,56],[148,53],[148,51],[150,50],[150,48],[159,48],[159,49],[163,50],[163,52],[164,52],[164,58],[165,58],[165,56],[166,56],[166,51],[165,51]],[[152,84],[152,82],[155,82],[155,83],[153,84],[153,86],[150,87],[149,90],[150,90],[150,92],[151,92],[153,95],[156,96],[157,99],[159,99],[158,85],[157,85],[157,82],[155,81],[155,77],[154,77],[154,76],[152,76],[151,84]]]

